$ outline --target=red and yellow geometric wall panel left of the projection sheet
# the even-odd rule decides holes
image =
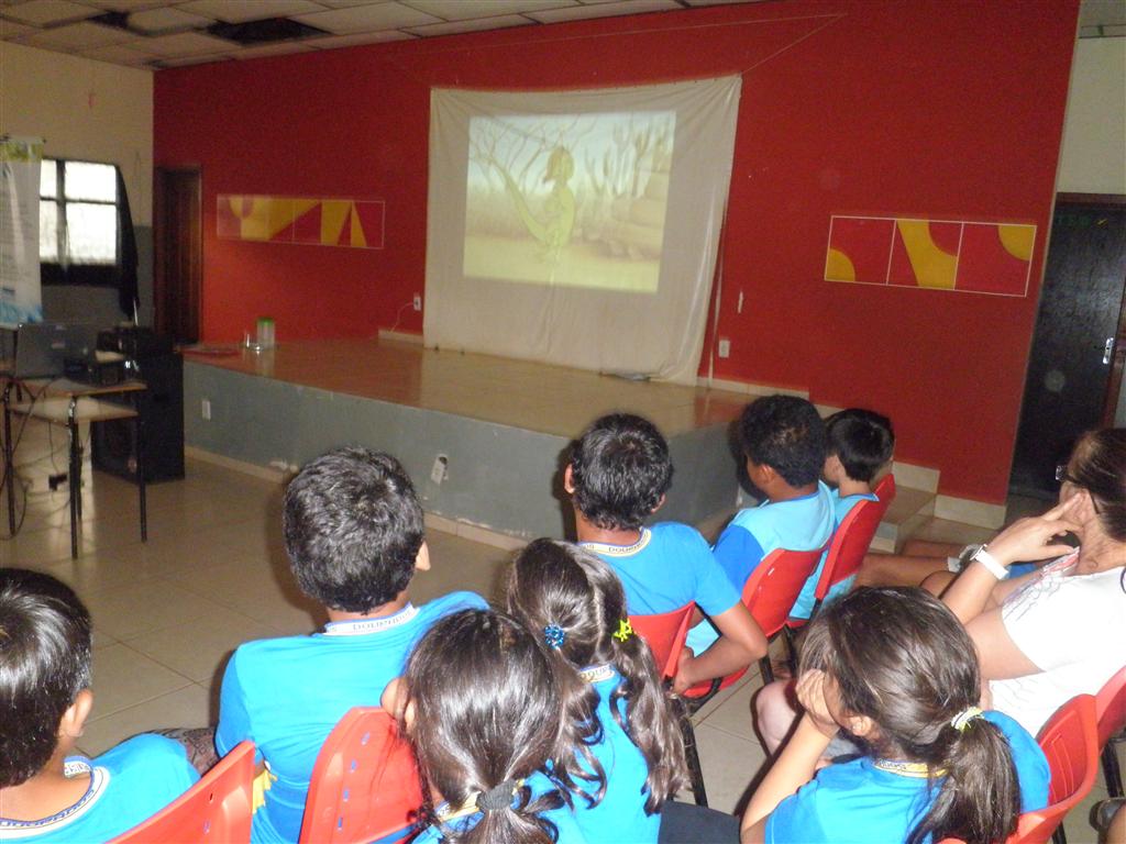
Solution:
[[[220,194],[215,219],[226,240],[383,249],[382,199]]]

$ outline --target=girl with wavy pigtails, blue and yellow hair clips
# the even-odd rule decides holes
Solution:
[[[561,684],[580,689],[571,715],[578,764],[560,780],[574,792],[587,839],[656,842],[662,807],[683,784],[683,739],[617,575],[579,546],[537,539],[516,557],[508,610],[555,657]]]

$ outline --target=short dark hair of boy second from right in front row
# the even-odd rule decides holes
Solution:
[[[817,408],[797,396],[763,396],[743,408],[739,421],[743,454],[769,466],[790,486],[821,477],[825,465],[825,423]]]

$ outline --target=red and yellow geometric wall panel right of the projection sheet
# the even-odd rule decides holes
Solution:
[[[833,215],[825,280],[1026,296],[1036,226]]]

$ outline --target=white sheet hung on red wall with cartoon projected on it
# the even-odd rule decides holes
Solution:
[[[740,90],[434,90],[426,343],[695,383]]]

